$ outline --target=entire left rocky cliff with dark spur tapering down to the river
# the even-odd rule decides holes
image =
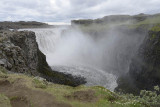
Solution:
[[[3,31],[0,35],[0,65],[11,72],[41,76],[71,86],[85,83],[84,78],[52,71],[38,48],[34,32]]]

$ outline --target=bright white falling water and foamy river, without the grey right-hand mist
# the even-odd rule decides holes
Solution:
[[[90,38],[83,36],[82,33],[77,31],[72,32],[71,35],[65,35],[65,29],[67,28],[27,30],[36,33],[39,48],[46,55],[47,62],[53,70],[82,76],[86,78],[86,85],[88,86],[99,85],[113,91],[117,86],[117,77],[96,67],[96,64],[91,64],[94,60],[93,57],[100,56],[90,54],[90,59],[86,60],[88,57],[87,49],[93,47],[94,43],[86,44],[86,42],[90,41]],[[90,53],[99,51],[98,49],[91,50],[89,50]],[[82,51],[83,53],[81,53]],[[77,52],[81,54],[77,55]]]

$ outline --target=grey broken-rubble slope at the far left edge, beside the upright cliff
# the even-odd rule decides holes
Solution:
[[[15,46],[9,40],[9,31],[1,32],[0,42],[0,65],[10,71],[25,73],[28,72],[26,58],[20,47]]]

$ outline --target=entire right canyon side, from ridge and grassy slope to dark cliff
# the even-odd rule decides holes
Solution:
[[[133,56],[131,55],[131,60],[129,59],[127,72],[123,69],[120,72],[120,69],[117,69],[120,75],[118,75],[118,87],[115,90],[139,94],[140,90],[152,90],[155,85],[160,86],[160,14],[111,15],[94,20],[73,20],[72,25],[78,25],[83,32],[94,35],[95,38],[100,38],[101,35],[107,34],[107,31],[112,31],[111,28],[116,27],[120,29],[114,29],[114,32],[123,32],[123,34],[118,32],[118,35],[135,36],[136,33],[140,35],[138,37],[145,35],[142,43],[135,44],[135,46],[140,45],[134,53],[132,53],[134,47],[125,50],[125,53],[129,52],[128,55],[133,54]],[[119,55],[123,59],[121,63],[127,59],[124,55]],[[116,66],[116,63],[112,65]]]

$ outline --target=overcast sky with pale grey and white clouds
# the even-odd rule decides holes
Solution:
[[[160,0],[0,0],[0,21],[69,23],[114,14],[160,13]]]

